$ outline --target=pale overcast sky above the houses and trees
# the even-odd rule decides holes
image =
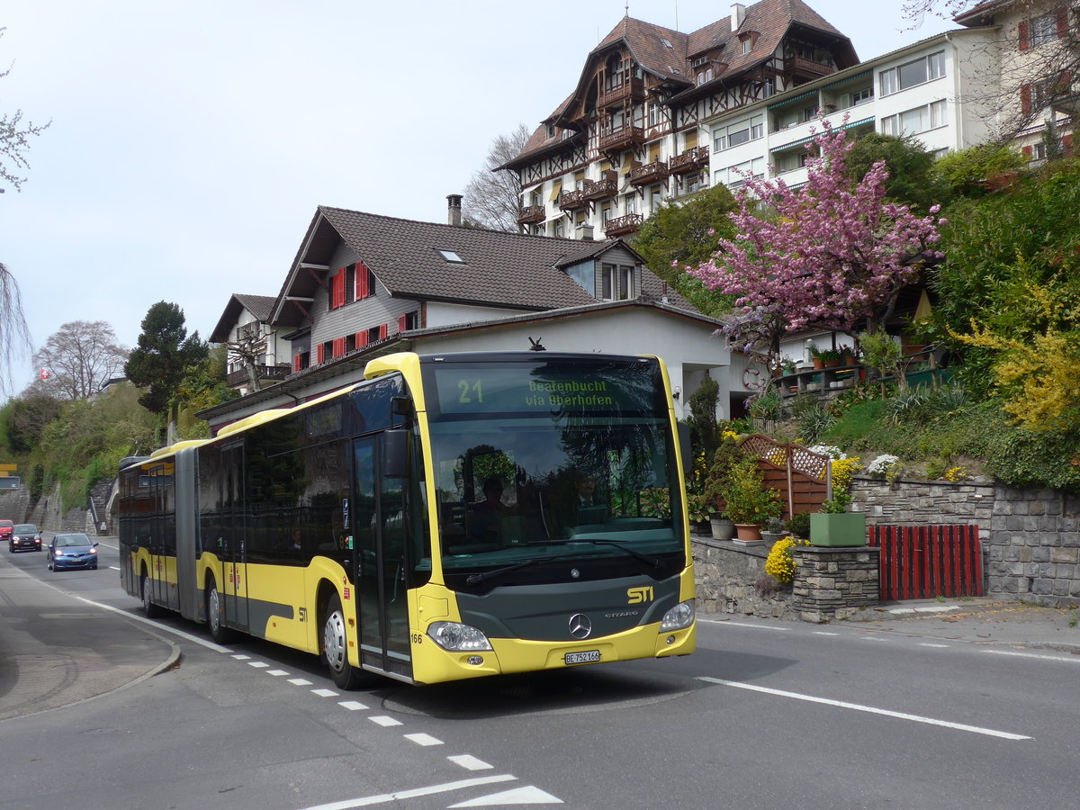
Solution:
[[[902,0],[808,0],[860,58]],[[52,126],[0,197],[0,261],[40,347],[106,321],[133,347],[157,301],[208,337],[232,293],[276,295],[320,204],[445,221],[491,139],[537,125],[625,0],[5,0],[0,112]],[[730,3],[630,0],[691,31]],[[14,391],[33,377],[11,369]]]

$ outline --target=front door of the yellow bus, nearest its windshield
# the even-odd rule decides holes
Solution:
[[[404,481],[379,469],[381,436],[353,443],[356,609],[361,663],[411,677]]]

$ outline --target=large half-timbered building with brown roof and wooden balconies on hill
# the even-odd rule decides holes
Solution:
[[[532,234],[634,233],[666,199],[710,183],[710,123],[859,64],[802,0],[734,3],[684,33],[623,18],[586,57],[569,97],[505,164]]]

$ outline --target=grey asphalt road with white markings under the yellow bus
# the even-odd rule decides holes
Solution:
[[[3,564],[137,616],[102,555]],[[701,619],[674,661],[338,693],[311,657],[168,618],[176,665],[0,721],[0,808],[1076,806],[1080,656]]]

